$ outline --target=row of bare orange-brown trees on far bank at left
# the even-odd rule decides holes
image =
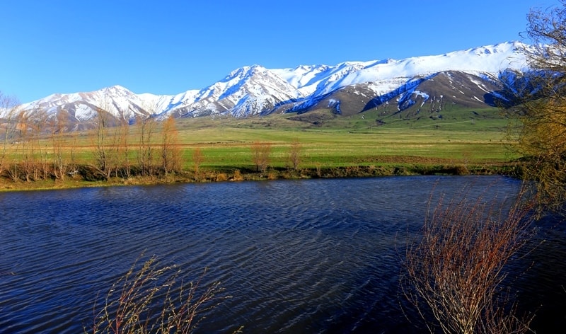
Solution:
[[[182,171],[183,152],[173,117],[158,129],[152,117],[138,115],[130,125],[123,115],[114,117],[96,108],[93,129],[85,132],[86,139],[79,139],[79,132],[70,131],[66,113],[21,110],[15,98],[1,93],[0,110],[0,175],[14,181],[64,180],[76,173],[108,180]],[[85,164],[86,154],[91,157]]]

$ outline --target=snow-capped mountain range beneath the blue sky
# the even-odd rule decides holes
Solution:
[[[499,73],[527,67],[529,45],[504,42],[447,54],[369,62],[342,62],[293,69],[242,67],[200,90],[175,96],[136,94],[121,86],[88,93],[54,94],[26,103],[29,112],[68,113],[76,122],[91,120],[97,109],[117,118],[162,119],[270,113],[305,113],[330,108],[337,113],[360,113],[388,103],[398,110],[424,103],[489,104],[500,88]],[[491,95],[490,95],[491,94]],[[434,100],[434,101],[433,101]],[[444,102],[439,102],[443,100]]]

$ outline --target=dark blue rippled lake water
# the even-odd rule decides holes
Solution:
[[[393,177],[0,193],[0,333],[82,333],[145,250],[232,296],[197,333],[421,333],[403,314],[407,237],[434,193],[512,196],[503,177]],[[538,333],[566,326],[566,226],[512,266]],[[406,309],[411,316],[410,309]],[[557,326],[557,327],[555,327]]]

